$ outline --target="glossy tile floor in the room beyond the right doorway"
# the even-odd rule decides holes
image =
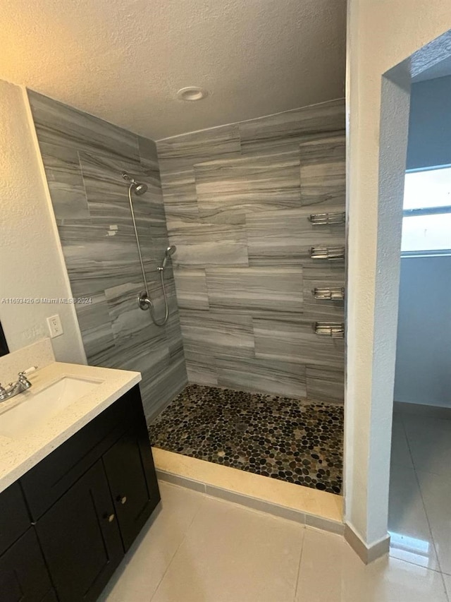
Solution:
[[[451,579],[451,419],[393,415],[390,555]]]

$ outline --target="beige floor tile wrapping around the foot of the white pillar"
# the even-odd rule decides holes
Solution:
[[[439,572],[396,558],[364,565],[340,536],[306,529],[295,602],[447,602]]]

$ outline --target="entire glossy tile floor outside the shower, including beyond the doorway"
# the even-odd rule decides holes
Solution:
[[[101,602],[451,602],[451,421],[393,425],[390,556],[161,482]]]

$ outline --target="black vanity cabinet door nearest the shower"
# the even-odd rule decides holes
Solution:
[[[104,466],[126,551],[160,500],[144,419],[104,454]]]

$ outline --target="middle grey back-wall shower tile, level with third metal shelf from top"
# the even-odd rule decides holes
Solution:
[[[302,312],[302,267],[218,267],[206,270],[210,307]]]

